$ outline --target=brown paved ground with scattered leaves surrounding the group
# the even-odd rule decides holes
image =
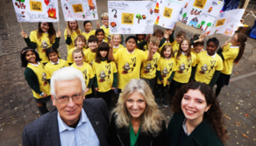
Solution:
[[[25,125],[39,117],[39,111],[32,97],[32,91],[28,87],[24,78],[24,68],[20,67],[19,53],[25,47],[25,41],[20,37],[20,24],[14,15],[11,0],[2,0],[0,4],[0,146],[21,145],[22,130]],[[60,0],[59,0],[60,2]],[[59,3],[60,4],[60,3]],[[98,13],[107,10],[107,1],[97,1],[100,7]],[[247,9],[246,11],[248,11]],[[255,18],[252,16],[245,18],[245,24],[252,26]],[[93,21],[94,29],[96,21]],[[37,29],[36,23],[22,23],[23,29],[29,34],[30,31]],[[58,30],[58,24],[54,24]],[[82,22],[79,22],[82,31]],[[60,11],[60,31],[66,28],[62,12]],[[192,34],[200,33],[197,29],[187,25],[178,24],[176,32],[186,31],[188,38]],[[124,36],[127,37],[127,36]],[[217,37],[220,44],[223,44],[228,37],[223,35],[210,36]],[[205,38],[207,40],[207,38]],[[228,129],[231,139],[228,145],[252,146],[256,144],[256,74],[255,58],[252,50],[255,49],[256,41],[248,38],[246,50],[238,66],[234,66],[231,75],[231,84],[224,87],[223,92],[218,97],[221,102],[224,114],[231,117],[225,118],[226,129]],[[63,59],[67,58],[67,47],[65,40],[60,39],[60,55]],[[168,97],[168,96],[167,96]],[[117,101],[117,95],[113,94],[112,106]],[[53,109],[51,103],[48,108]],[[170,108],[163,108],[167,115],[167,122],[173,113]],[[236,123],[237,122],[237,123]],[[245,138],[241,134],[249,137]]]

